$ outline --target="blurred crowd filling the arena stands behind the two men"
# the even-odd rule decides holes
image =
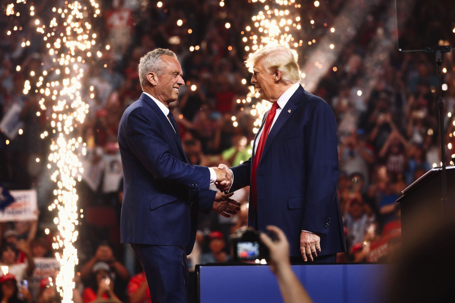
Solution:
[[[36,15],[46,15],[48,2],[52,1],[35,4]],[[401,190],[441,162],[434,57],[403,54],[392,44],[380,54],[376,65],[369,65],[378,59],[378,29],[391,37],[396,35],[388,32],[388,25],[394,22],[389,1],[377,2],[374,14],[365,17],[364,26],[339,50],[333,64],[337,69],[330,69],[312,92],[329,103],[338,124],[337,190],[348,248],[339,254],[339,262],[388,260],[399,247],[400,209],[396,199]],[[442,44],[453,40],[452,29],[442,25],[453,15],[454,6],[449,1],[431,6],[428,1],[415,2],[412,18],[400,28],[400,47],[425,45],[425,41],[435,39],[436,31],[443,37]],[[0,3],[3,11],[8,1]],[[171,106],[191,164],[238,165],[250,157],[256,118],[250,114],[251,104],[236,102],[248,93],[241,80],[251,76],[243,65],[247,54],[240,35],[245,20],[250,20],[254,11],[253,4],[248,5],[225,1],[220,6],[219,1],[202,0],[169,0],[162,7],[143,5],[141,1],[101,2],[103,14],[93,26],[100,29],[97,43],[110,45],[110,50],[104,51],[82,78],[90,112],[77,129],[86,142],[87,156],[82,159],[85,171],[77,185],[84,217],[76,242],[80,266],[75,302],[100,298],[111,302],[150,301],[140,264],[131,248],[119,243],[123,181],[117,128],[123,110],[141,94],[137,64],[142,55],[165,47],[173,50],[182,64],[186,85]],[[438,5],[445,7],[447,14],[440,17],[440,28],[421,28],[433,20]],[[302,11],[318,16],[314,19],[326,23],[327,30],[342,7],[343,1],[333,0],[327,1],[324,10],[311,3]],[[176,23],[179,19],[183,20],[181,26]],[[231,24],[229,29],[226,22]],[[13,18],[0,20],[2,29],[15,25]],[[13,106],[20,106],[23,124],[23,134],[14,138],[0,133],[0,182],[11,190],[36,189],[40,209],[38,221],[0,225],[0,266],[8,267],[8,274],[0,278],[0,299],[4,302],[16,302],[5,299],[17,297],[16,293],[26,302],[56,302],[58,297],[52,277],[40,280],[35,293],[24,284],[36,270],[36,258],[54,255],[51,243],[56,235],[54,215],[47,211],[54,185],[45,169],[46,161],[35,161],[47,159],[50,140],[40,139],[39,134],[42,129],[50,130],[50,126],[45,112],[36,115],[41,96],[22,93],[30,70],[40,69],[47,51],[33,30],[30,27],[29,32],[0,33],[0,120]],[[325,32],[318,30],[316,39]],[[21,47],[23,38],[30,40],[29,48]],[[190,46],[197,46],[196,50],[189,50]],[[301,61],[306,51],[311,48],[298,50]],[[21,66],[19,72],[17,65]],[[444,112],[452,113],[455,62],[451,54],[444,55],[444,68]],[[89,97],[90,87],[93,98]],[[237,126],[233,125],[233,116]],[[455,124],[450,116],[444,117],[446,143],[450,143],[447,163],[451,144],[455,144]],[[237,216],[224,218],[213,212],[199,216],[190,268],[199,263],[229,262],[229,235],[247,224],[248,188],[238,190],[233,198],[243,204]],[[46,234],[45,228],[51,233]]]

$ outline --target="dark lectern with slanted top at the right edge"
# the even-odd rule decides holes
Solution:
[[[441,202],[441,168],[430,169],[426,174],[405,188],[397,200],[401,206],[401,237],[408,242],[413,234],[410,223],[415,210],[432,209],[428,215],[440,215],[453,212],[455,206],[455,166],[446,166],[447,200]],[[440,211],[439,211],[440,210]],[[429,218],[430,219],[430,218]]]

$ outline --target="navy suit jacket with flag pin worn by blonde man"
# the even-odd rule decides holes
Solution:
[[[257,215],[251,206],[248,225],[259,230],[265,230],[266,225],[283,229],[291,256],[301,255],[302,230],[321,235],[321,255],[346,250],[336,191],[337,140],[336,121],[329,104],[302,86],[291,96],[268,134],[256,171]],[[256,138],[254,142],[258,144]],[[231,192],[250,185],[254,156],[253,150],[248,161],[231,168]]]

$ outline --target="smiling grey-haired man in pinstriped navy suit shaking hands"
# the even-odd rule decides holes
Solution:
[[[123,113],[118,130],[123,167],[121,243],[142,263],[154,303],[187,302],[187,254],[197,213],[236,214],[232,194],[208,190],[231,183],[226,170],[191,165],[169,104],[185,85],[177,56],[156,49],[139,63],[143,93]],[[221,185],[220,185],[221,184]]]

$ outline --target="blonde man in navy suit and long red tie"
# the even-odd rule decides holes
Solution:
[[[296,56],[282,45],[265,46],[245,61],[259,97],[272,103],[254,138],[252,157],[236,167],[233,192],[250,185],[248,225],[275,225],[290,243],[293,262],[334,263],[346,250],[336,191],[337,125],[323,99],[299,84]]]

